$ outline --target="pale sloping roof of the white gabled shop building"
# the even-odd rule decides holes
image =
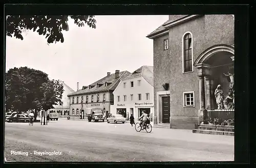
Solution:
[[[141,66],[135,70],[131,75],[127,76],[124,79],[134,78],[134,77],[143,77],[149,84],[154,86],[154,67],[153,66]]]

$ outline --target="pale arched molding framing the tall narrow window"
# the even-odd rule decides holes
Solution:
[[[185,43],[184,43],[184,38],[187,34],[190,34],[191,36],[191,63],[190,63],[190,66],[191,66],[191,70],[189,71],[185,71]],[[182,73],[185,74],[185,73],[193,73],[194,72],[194,38],[193,38],[193,34],[189,31],[185,32],[182,36]]]

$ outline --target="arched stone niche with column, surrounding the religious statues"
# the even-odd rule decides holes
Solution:
[[[206,109],[218,108],[215,99],[217,86],[221,85],[224,97],[230,91],[231,78],[228,74],[234,77],[234,46],[212,46],[197,58],[194,66],[198,69],[200,121],[203,121],[207,117]]]

